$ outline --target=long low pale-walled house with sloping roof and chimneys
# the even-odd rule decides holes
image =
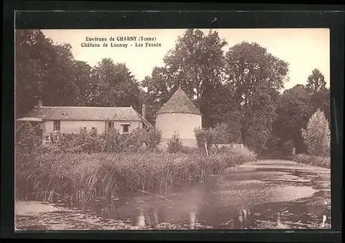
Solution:
[[[97,129],[103,133],[110,128],[128,133],[136,128],[152,127],[146,117],[146,106],[142,115],[130,107],[83,107],[83,106],[42,106],[39,101],[30,112],[17,122],[39,124],[43,144],[50,144],[59,139],[61,133],[79,133],[81,128]]]

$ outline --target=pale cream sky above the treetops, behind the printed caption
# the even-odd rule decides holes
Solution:
[[[290,81],[285,88],[306,84],[314,68],[318,68],[329,87],[330,42],[329,30],[319,28],[299,29],[216,29],[219,37],[228,45],[225,50],[242,41],[256,42],[275,57],[289,64]],[[184,29],[148,30],[42,30],[55,43],[70,43],[75,59],[95,66],[102,58],[109,57],[115,63],[125,63],[139,81],[150,75],[155,66],[164,66],[163,58],[174,48]],[[203,30],[208,32],[209,30]],[[107,38],[107,41],[86,41],[86,38]],[[110,41],[115,37],[115,41]],[[117,37],[137,37],[136,41],[117,41]],[[160,43],[156,47],[135,47],[139,37],[151,37],[148,43]],[[99,43],[100,47],[83,47],[84,43]],[[108,43],[108,47],[103,47]],[[128,43],[127,48],[111,47],[111,43]],[[130,46],[132,44],[132,46]]]

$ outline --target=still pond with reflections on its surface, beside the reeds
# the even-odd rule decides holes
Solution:
[[[131,193],[87,206],[106,222],[141,229],[330,229],[330,185],[329,169],[262,160],[169,195]]]

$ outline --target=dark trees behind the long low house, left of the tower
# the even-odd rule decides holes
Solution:
[[[45,106],[133,106],[139,83],[125,64],[102,59],[91,67],[73,57],[70,44],[53,43],[40,30],[15,33],[16,117],[39,100]]]

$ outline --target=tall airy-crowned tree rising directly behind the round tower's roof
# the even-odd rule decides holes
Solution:
[[[226,41],[220,39],[216,31],[210,30],[204,35],[201,30],[186,30],[164,58],[173,77],[171,86],[181,84],[191,98],[197,99],[200,107],[206,90],[221,81],[225,45]]]

